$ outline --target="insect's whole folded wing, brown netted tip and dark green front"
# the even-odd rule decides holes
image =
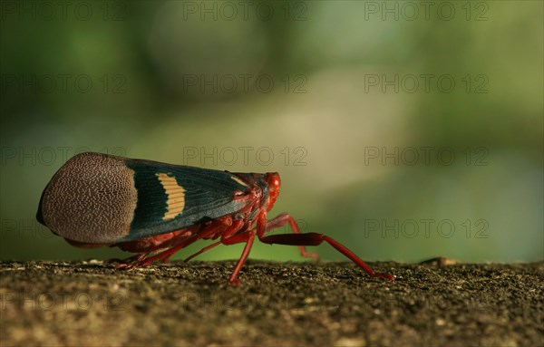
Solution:
[[[250,186],[226,171],[88,152],[54,174],[36,217],[75,243],[112,245],[235,213]]]

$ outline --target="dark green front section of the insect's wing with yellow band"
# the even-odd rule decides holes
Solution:
[[[119,241],[190,227],[251,203],[248,184],[226,171],[137,159],[126,165],[134,171],[137,203],[130,233]]]

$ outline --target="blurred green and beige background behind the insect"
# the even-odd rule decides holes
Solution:
[[[272,216],[368,260],[544,258],[542,2],[62,4],[2,2],[0,258],[128,256],[35,222],[84,150],[278,171]]]

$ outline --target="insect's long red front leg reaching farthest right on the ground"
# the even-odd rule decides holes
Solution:
[[[290,215],[282,215],[283,218],[287,218],[289,220],[289,223],[291,224],[291,227],[293,225],[296,226],[295,220]],[[275,218],[276,219],[276,218]],[[273,221],[275,219],[272,219]],[[292,222],[291,222],[292,220]],[[268,227],[266,228],[268,230]],[[257,233],[257,236],[261,242],[264,242],[266,244],[279,244],[279,245],[291,245],[291,246],[317,246],[321,245],[323,241],[326,241],[329,245],[333,246],[343,255],[347,256],[349,259],[351,259],[356,265],[359,265],[363,268],[363,270],[373,277],[384,277],[391,281],[394,281],[393,275],[389,274],[382,274],[382,273],[375,273],[372,267],[369,265],[366,265],[361,258],[359,258],[357,255],[355,255],[352,251],[347,249],[344,245],[336,241],[335,239],[325,236],[323,234],[317,234],[317,233],[305,233],[305,234],[282,234],[282,235],[270,235],[270,236],[264,236],[264,232]]]

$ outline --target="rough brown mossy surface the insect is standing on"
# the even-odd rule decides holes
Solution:
[[[542,346],[544,263],[0,263],[1,345]]]

